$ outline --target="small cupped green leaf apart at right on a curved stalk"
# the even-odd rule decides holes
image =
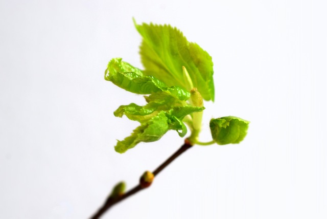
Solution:
[[[210,121],[211,135],[217,144],[237,144],[245,138],[249,123],[233,116],[212,119]]]

